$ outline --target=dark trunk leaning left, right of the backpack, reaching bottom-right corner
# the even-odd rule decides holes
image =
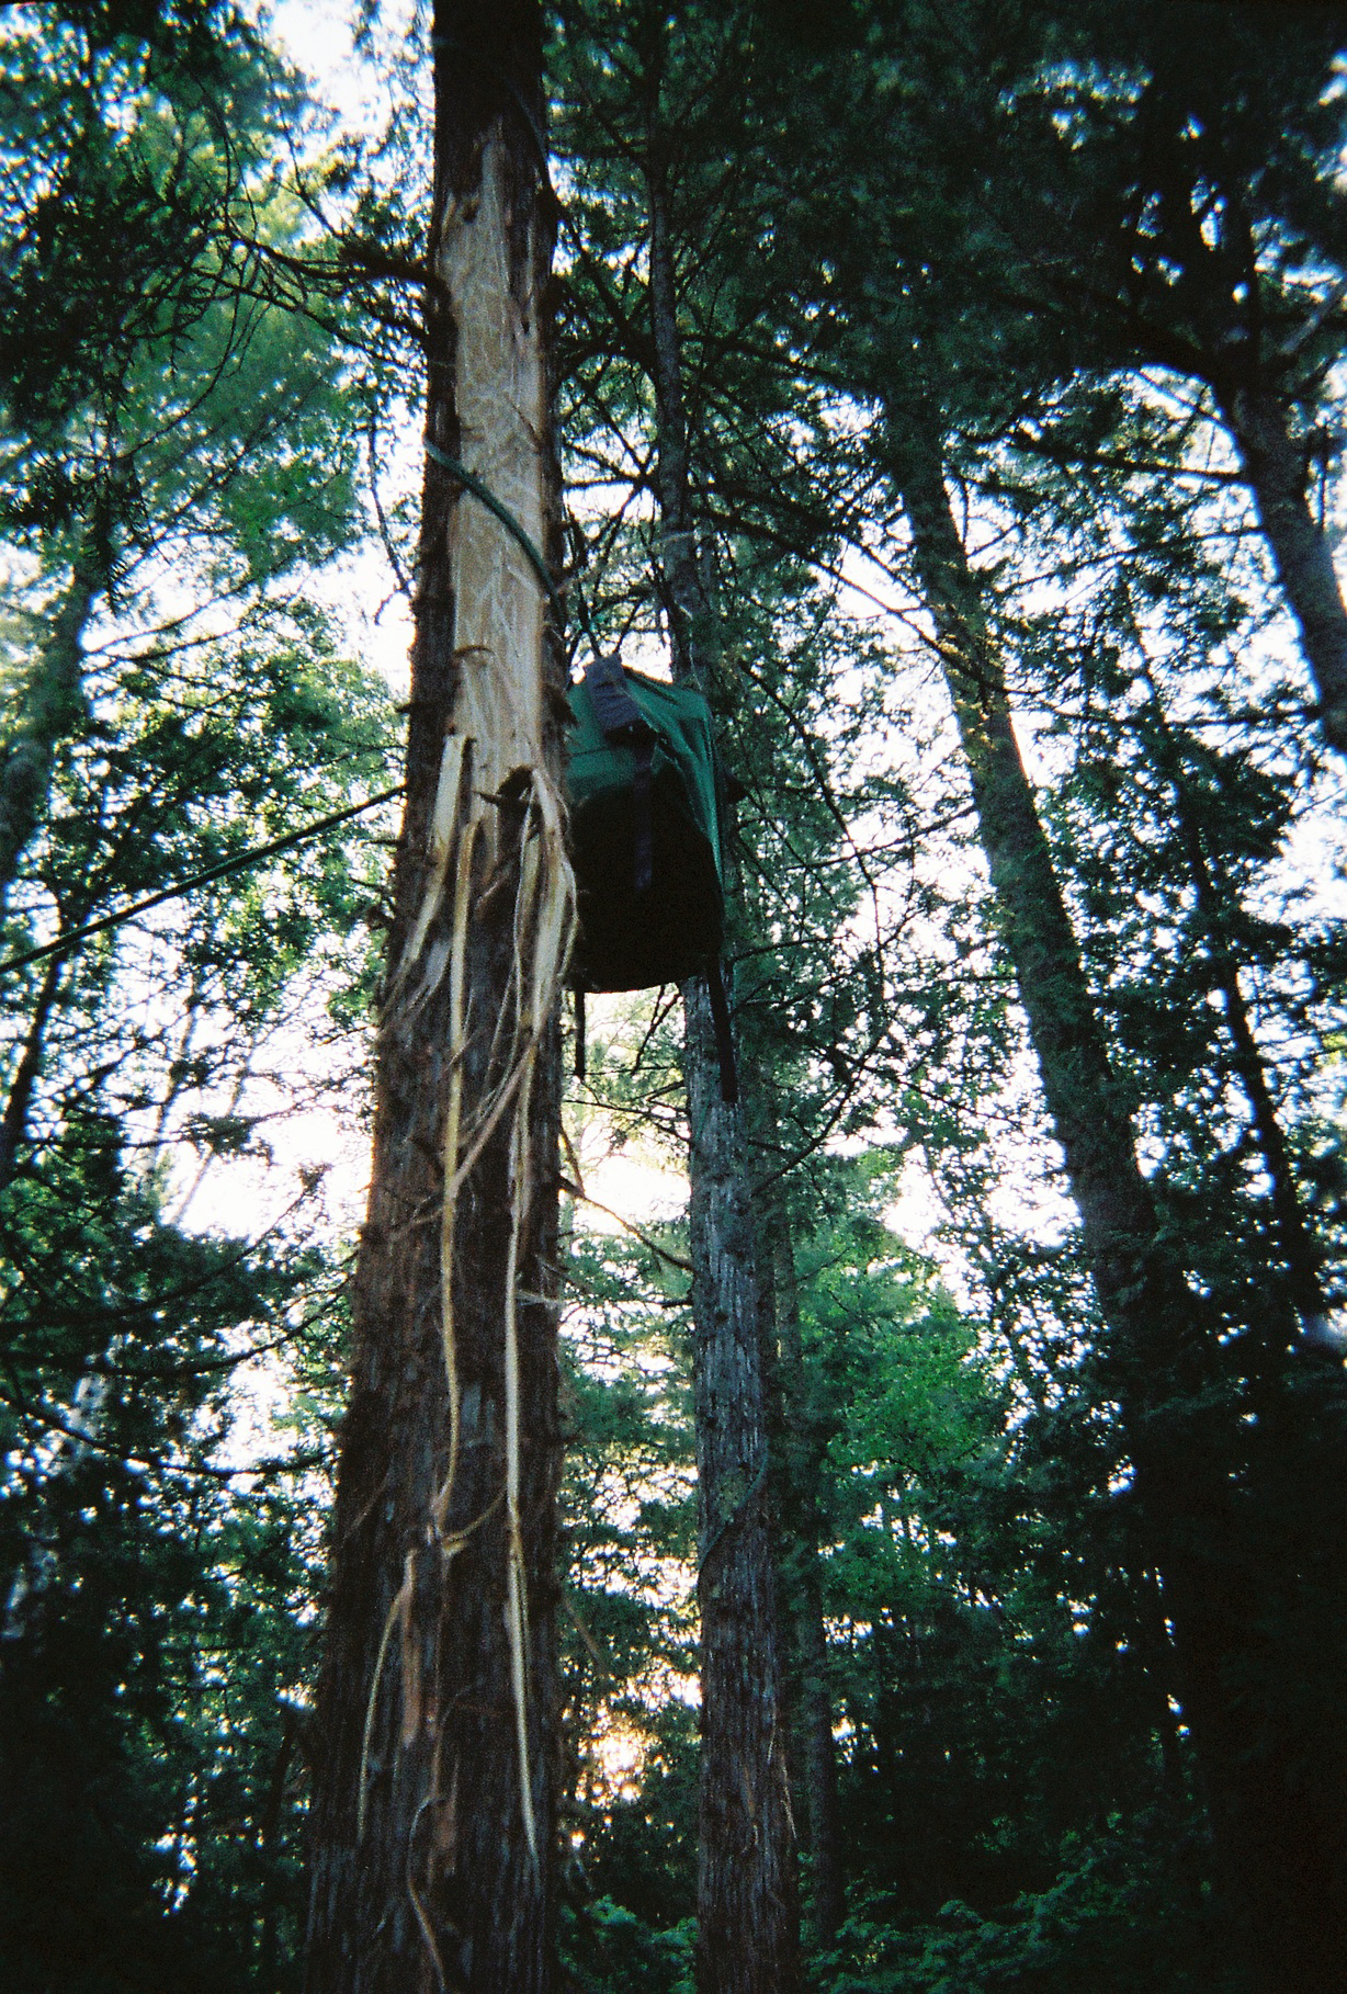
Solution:
[[[1321,1448],[1329,1466],[1315,1523],[1319,1535],[1325,1527],[1331,1533],[1331,1549],[1319,1549],[1311,1569],[1301,1561],[1293,1490],[1303,1497],[1313,1476],[1297,1474],[1291,1462],[1281,1488],[1275,1468],[1251,1486],[1257,1448],[1249,1448],[1239,1402],[1221,1386],[1213,1326],[1171,1256],[1137,1166],[1127,1101],[1110,1069],[1014,738],[930,417],[904,407],[894,429],[902,435],[894,477],[968,760],[998,919],[1108,1328],[1102,1366],[1133,1462],[1135,1527],[1147,1561],[1153,1555],[1161,1571],[1175,1629],[1225,1900],[1259,1994],[1335,1986],[1347,1944],[1343,1723],[1337,1685],[1327,1687],[1341,1653],[1341,1464],[1331,1444]],[[1283,1358],[1277,1350],[1253,1358],[1273,1392]],[[1299,1466],[1305,1462],[1301,1454]],[[1267,1513],[1263,1494],[1273,1497]],[[1283,1541],[1277,1511],[1293,1519]],[[1315,1649],[1325,1683],[1303,1679]]]

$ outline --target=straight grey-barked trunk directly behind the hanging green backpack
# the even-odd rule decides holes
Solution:
[[[696,562],[667,187],[651,138],[651,321],[663,580],[674,676],[696,680],[712,624]],[[692,1149],[692,1352],[698,1484],[698,1994],[798,1984],[796,1860],[768,1517],[760,1288],[742,1107],[720,1097],[710,997],[682,991]]]

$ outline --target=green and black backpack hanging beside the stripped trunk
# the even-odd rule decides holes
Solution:
[[[583,993],[706,975],[724,1099],[736,1097],[724,945],[724,847],[732,782],[710,708],[690,686],[595,658],[571,686],[571,857],[579,893],[573,959],[577,1069]]]

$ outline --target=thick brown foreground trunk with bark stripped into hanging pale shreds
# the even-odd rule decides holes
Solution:
[[[407,814],[317,1699],[309,1994],[551,1986],[557,989],[573,885],[537,0],[435,8]]]

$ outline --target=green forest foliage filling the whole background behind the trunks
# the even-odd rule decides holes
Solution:
[[[1201,1438],[1263,1519],[1263,1569],[1311,1597],[1257,1663],[1309,1707],[1347,1647],[1343,778],[1239,425],[1263,397],[1331,542],[1343,38],[1319,10],[1046,0],[565,0],[549,22],[569,584],[659,668],[659,197],[710,694],[748,792],[770,1503],[792,1723],[826,1699],[846,1886],[810,1984],[1245,1994],[1127,1352],[902,495],[934,437],[1092,1015],[1205,1310],[1149,1416]],[[409,566],[411,475],[389,453],[367,506],[359,473],[415,409],[425,32],[387,142],[319,158],[299,82],[224,6],[70,0],[0,28],[6,957],[393,780],[389,702],[313,576],[377,536]],[[365,1105],[383,822],[4,971],[0,1956],[22,1994],[299,1980],[351,1232],[323,1166]],[[678,1170],[671,995],[591,1009],[567,1109],[559,1888],[585,1994],[692,1986],[686,1242],[676,1198],[597,1230],[581,1182],[601,1153]]]

